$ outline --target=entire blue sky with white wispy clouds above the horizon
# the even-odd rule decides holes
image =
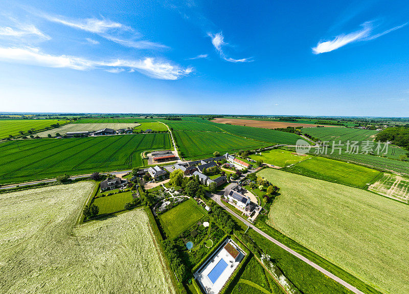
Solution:
[[[406,1],[2,1],[1,111],[409,116]]]

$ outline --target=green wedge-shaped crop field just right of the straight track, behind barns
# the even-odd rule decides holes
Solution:
[[[206,157],[218,151],[239,151],[240,149],[257,149],[268,146],[268,143],[245,139],[227,133],[174,131],[174,138],[185,159]]]

